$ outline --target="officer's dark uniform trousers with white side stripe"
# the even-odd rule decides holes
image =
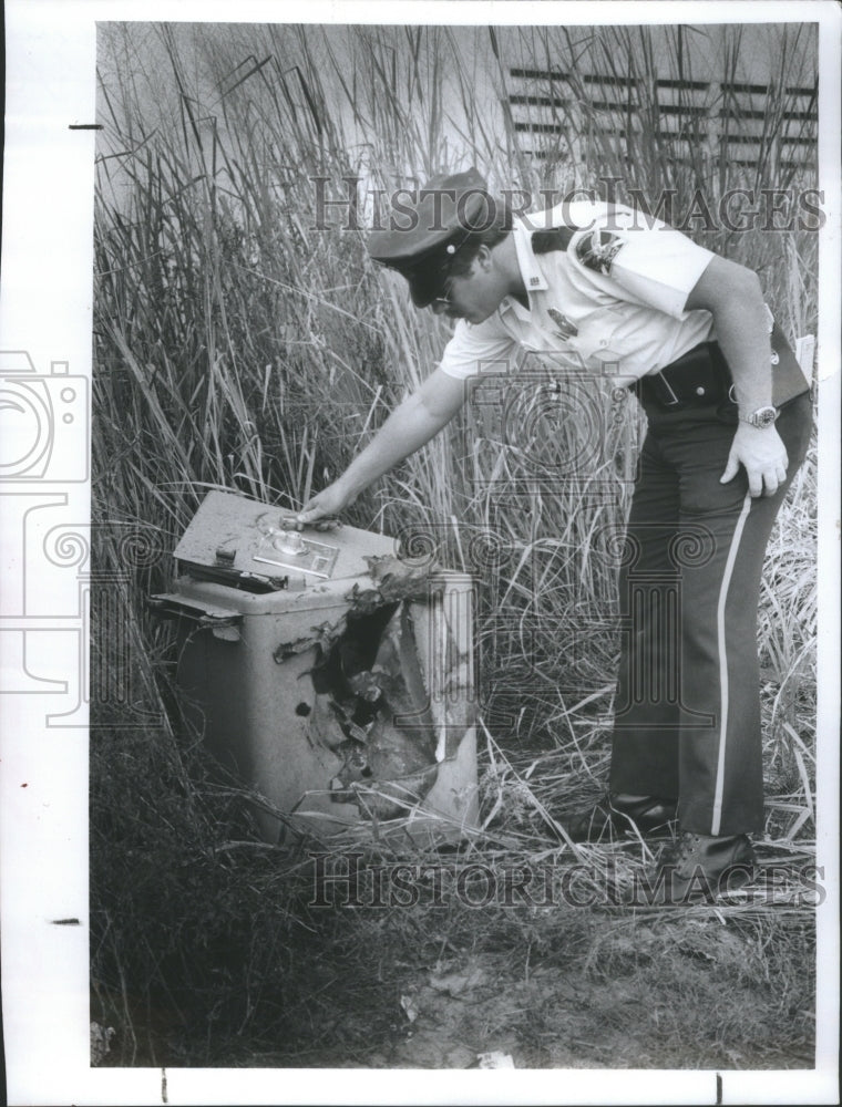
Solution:
[[[763,555],[804,458],[812,404],[777,428],[787,483],[752,499],[746,473],[720,484],[733,416],[645,404],[648,432],[620,566],[623,646],[610,788],[678,799],[684,830],[763,828],[757,618]]]

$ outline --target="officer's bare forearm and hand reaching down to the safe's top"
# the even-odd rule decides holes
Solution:
[[[392,412],[345,473],[314,496],[298,513],[300,524],[336,515],[372,480],[393,469],[438,434],[464,403],[465,382],[434,370],[424,383]]]

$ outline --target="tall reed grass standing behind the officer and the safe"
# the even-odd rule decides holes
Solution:
[[[666,54],[656,55],[645,28],[101,24],[93,483],[101,568],[122,568],[126,523],[151,528],[160,549],[172,549],[210,488],[299,506],[435,363],[445,324],[412,310],[402,282],[373,270],[362,230],[319,227],[315,178],[342,201],[346,177],[389,188],[475,164],[497,187],[565,190],[613,177],[620,199],[637,188],[655,203],[670,188],[680,208],[701,189],[715,204],[747,183],[746,170],[706,154],[696,102],[679,97],[670,116],[675,142],[690,139],[689,159],[658,123],[657,79],[665,71],[692,79],[686,40],[699,33],[667,29]],[[740,29],[723,41],[719,75],[733,83],[742,72]],[[780,79],[764,101],[762,157],[749,184],[785,188],[793,170],[777,139],[787,90],[809,80],[814,44],[797,24],[771,29],[768,43]],[[532,139],[506,97],[507,71],[518,65],[563,68],[575,90],[575,113],[552,108],[564,133],[546,139],[540,158],[527,155]],[[594,125],[606,115],[586,80],[597,70],[610,75],[615,100],[634,90],[643,107],[645,125],[627,147]],[[553,87],[546,92],[552,100]],[[605,85],[600,95],[608,99]],[[616,122],[619,128],[623,118]],[[730,125],[739,127],[739,117]],[[809,163],[799,179],[811,183]],[[341,207],[328,211],[342,220]],[[814,235],[702,229],[698,237],[759,271],[791,337],[814,331]],[[537,488],[525,501],[518,489],[534,485],[536,466],[552,470],[581,449],[575,420],[555,425],[526,456],[478,435],[465,413],[347,514],[392,534],[435,528],[455,567],[472,567],[461,559],[478,530],[491,535],[479,633],[490,741],[499,721],[489,748],[499,753],[486,764],[486,810],[507,810],[513,825],[525,810],[524,840],[535,849],[543,846],[534,818],[544,831],[552,827],[553,811],[596,792],[606,762],[617,602],[606,546],[625,518],[639,424],[630,410],[613,420],[610,393],[600,403],[604,447],[552,495]],[[760,619],[769,829],[799,849],[809,847],[813,813],[815,504],[811,454],[770,547]],[[228,821],[195,738],[179,730],[166,632],[144,612],[145,594],[164,587],[168,572],[163,556],[138,566],[125,606],[144,695],[175,728],[165,724],[152,744],[137,728],[94,732],[94,975],[103,1006],[122,1012],[129,1028],[123,1063],[148,1059],[164,1039],[183,1063],[207,1063],[223,1037],[251,1033],[267,1010],[276,1031],[294,1034],[291,1012],[308,994],[296,959],[312,921],[296,914],[292,876],[283,897],[261,903],[249,894],[235,904],[237,850],[208,863],[208,841],[246,831],[234,815]],[[596,630],[584,650],[577,638],[574,653],[565,628],[583,621]],[[524,680],[525,697],[517,694]],[[176,841],[194,866],[179,868],[183,881],[172,872],[137,881],[144,850],[161,865]],[[276,862],[256,845],[240,842],[239,852],[250,887],[279,894]],[[223,904],[218,918],[208,908],[187,919],[185,900],[210,897]],[[236,939],[223,955],[226,928]],[[348,954],[350,939],[321,937],[331,955]],[[268,942],[263,952],[260,942]],[[286,983],[268,963],[276,953]],[[226,1003],[236,1017],[223,1014]],[[154,1004],[171,1014],[201,1008],[205,1044],[183,1022],[177,1048],[168,1024],[152,1034]],[[130,1033],[138,1020],[148,1031],[142,1045]]]

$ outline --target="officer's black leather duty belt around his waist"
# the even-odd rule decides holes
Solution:
[[[776,407],[794,400],[810,387],[783,332],[776,323],[771,333],[772,403]],[[681,411],[717,404],[736,415],[733,379],[718,342],[701,342],[658,373],[637,382],[644,407]]]

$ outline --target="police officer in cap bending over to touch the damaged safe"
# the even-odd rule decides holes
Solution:
[[[430,182],[407,210],[413,218],[371,235],[369,254],[405,277],[415,307],[459,322],[438,368],[299,523],[340,511],[452,418],[466,380],[514,370],[524,349],[633,386],[648,432],[620,569],[630,628],[609,792],[569,830],[657,834],[677,818],[659,894],[732,888],[750,878],[749,835],[763,826],[763,552],[811,427],[808,382],[758,278],[617,206],[513,219],[475,170]],[[679,694],[658,694],[676,672]]]

